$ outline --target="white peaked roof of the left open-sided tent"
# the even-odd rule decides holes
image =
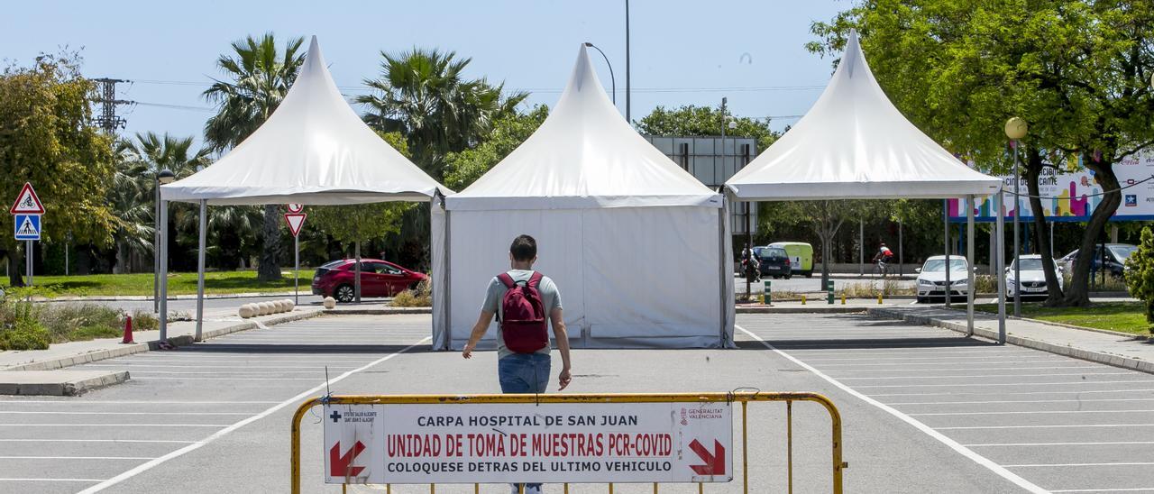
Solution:
[[[168,201],[359,204],[426,201],[441,189],[385,143],[340,96],[316,37],[277,110],[209,167],[160,186]]]

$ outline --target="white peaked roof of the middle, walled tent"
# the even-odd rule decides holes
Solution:
[[[721,207],[721,197],[645,141],[617,113],[582,45],[549,117],[460,193],[451,210]]]

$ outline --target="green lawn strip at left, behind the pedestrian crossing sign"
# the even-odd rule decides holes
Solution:
[[[293,287],[292,270],[282,271],[277,282],[256,280],[256,271],[215,271],[204,274],[204,293],[283,292]],[[36,276],[36,294],[55,295],[152,295],[152,274]],[[300,270],[301,291],[308,293],[313,283],[312,270]],[[7,280],[0,287],[9,290]],[[195,272],[170,272],[168,294],[196,293]]]

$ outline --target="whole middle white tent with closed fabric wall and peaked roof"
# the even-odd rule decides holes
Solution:
[[[621,118],[584,46],[549,118],[444,207],[434,214],[445,225],[433,268],[445,289],[433,300],[435,349],[464,345],[485,287],[509,268],[509,244],[522,233],[538,241],[537,269],[561,291],[575,345],[732,344],[722,196]]]

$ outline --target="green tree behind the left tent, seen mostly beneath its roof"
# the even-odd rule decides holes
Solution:
[[[381,139],[392,145],[405,157],[409,147],[400,133],[379,132]],[[308,208],[308,222],[344,246],[365,244],[373,239],[384,238],[400,232],[402,218],[405,211],[413,209],[407,202],[375,202],[370,204],[316,205]],[[357,249],[360,250],[359,248]],[[360,262],[360,257],[357,257]],[[357,299],[360,300],[360,286],[357,286]]]

